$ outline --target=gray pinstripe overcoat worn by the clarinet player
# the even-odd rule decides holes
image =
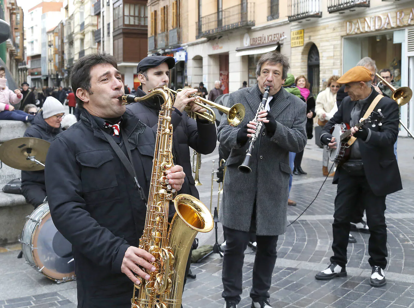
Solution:
[[[260,91],[256,84],[229,96],[227,105],[242,103],[246,116],[238,127],[231,127],[224,115],[218,128],[219,142],[231,148],[219,214],[223,226],[249,231],[256,197],[256,234],[274,236],[285,232],[291,173],[289,152],[300,152],[306,145],[306,103],[283,88],[280,91],[270,109],[277,122],[276,131],[269,138],[263,135],[262,127],[250,159],[252,172],[248,174],[237,169],[248,143],[240,147],[236,137],[238,130],[254,119],[261,101]]]

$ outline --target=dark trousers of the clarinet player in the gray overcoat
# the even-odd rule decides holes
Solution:
[[[238,231],[223,226],[226,234],[226,248],[223,257],[223,293],[226,301],[239,303],[243,292],[244,251],[250,239],[250,232]],[[276,262],[278,236],[256,236],[257,251],[253,265],[253,286],[250,297],[253,301],[270,298],[272,272]]]

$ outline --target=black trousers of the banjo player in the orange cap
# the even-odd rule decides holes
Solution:
[[[350,225],[356,207],[365,205],[366,222],[369,227],[368,262],[371,266],[387,266],[387,225],[385,224],[385,197],[374,195],[365,176],[350,176],[339,170],[337,196],[335,198],[334,222],[332,224],[334,255],[331,262],[340,266],[347,264],[347,246]]]

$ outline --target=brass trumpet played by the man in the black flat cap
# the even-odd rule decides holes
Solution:
[[[183,89],[177,89],[177,91],[170,89],[170,91],[175,94],[178,94],[178,92],[183,91]],[[190,96],[194,97],[196,95],[190,94]],[[200,103],[199,101],[201,101],[202,103]],[[239,125],[241,121],[243,121],[244,115],[246,115],[246,109],[241,103],[236,103],[231,107],[225,107],[225,106],[221,106],[220,104],[209,101],[208,99],[203,99],[202,97],[199,97],[196,101],[194,101],[194,103],[201,106],[202,108],[207,109],[207,112],[203,112],[203,113],[194,112],[194,113],[196,115],[200,115],[202,118],[205,118],[206,120],[212,123],[216,121],[216,114],[214,113],[212,108],[216,108],[222,113],[225,113],[227,115],[227,121],[229,121],[229,124],[231,126]],[[211,106],[211,108],[207,105]],[[186,106],[184,110],[186,112],[190,112],[190,106]]]

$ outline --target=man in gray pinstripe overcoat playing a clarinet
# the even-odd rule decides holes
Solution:
[[[224,308],[236,308],[240,302],[244,250],[249,231],[257,235],[257,252],[250,291],[252,308],[270,308],[269,288],[276,262],[276,244],[286,228],[289,196],[289,152],[300,152],[306,145],[306,104],[282,87],[289,70],[284,55],[266,53],[260,57],[256,76],[258,84],[230,94],[229,106],[242,103],[246,116],[231,127],[223,117],[218,128],[220,144],[231,148],[226,161],[223,201],[219,220],[226,234],[223,258],[222,293]],[[262,130],[256,132],[255,118],[264,87],[270,87],[265,106],[258,114]],[[249,122],[250,121],[250,122]],[[258,134],[251,151],[250,173],[238,166],[246,155],[251,134]]]

